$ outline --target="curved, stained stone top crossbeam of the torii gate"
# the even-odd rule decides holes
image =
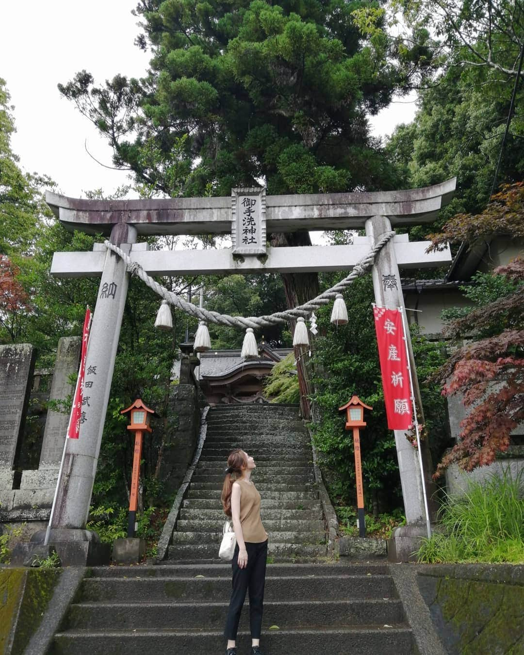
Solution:
[[[388,216],[393,227],[430,223],[456,184],[451,178],[409,191],[267,196],[267,231],[361,229],[374,215]],[[140,234],[231,233],[231,196],[83,200],[48,191],[46,200],[64,227],[90,234],[109,235],[118,223],[134,225]]]

